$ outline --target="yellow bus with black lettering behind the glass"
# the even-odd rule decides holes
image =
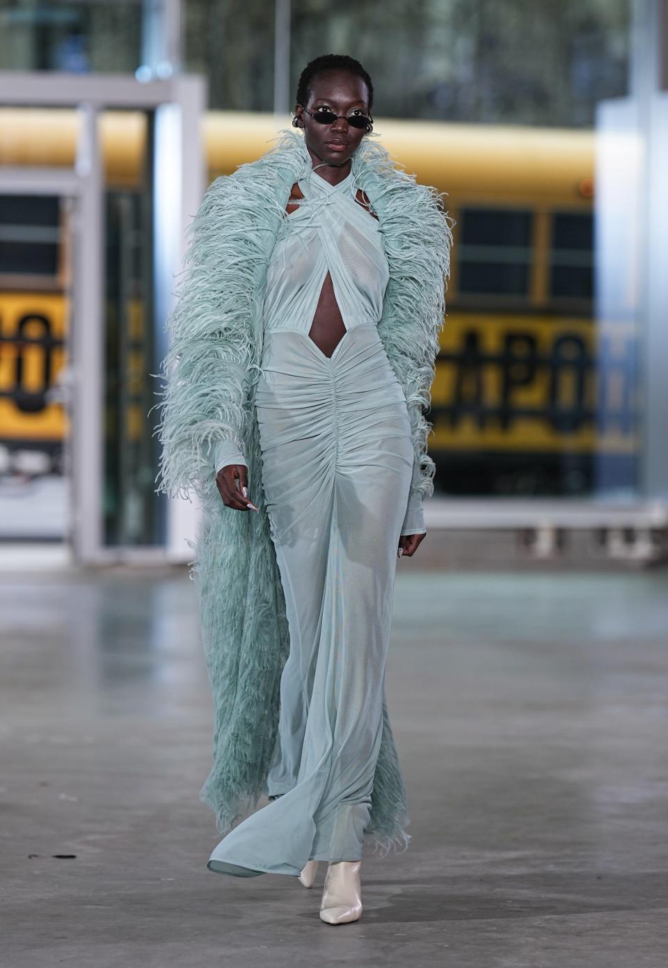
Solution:
[[[67,110],[0,110],[0,164],[72,166],[76,124]],[[258,158],[276,127],[270,114],[208,112],[209,180]],[[418,181],[447,193],[456,222],[428,414],[440,490],[585,495],[601,460],[621,480],[632,475],[634,333],[592,318],[592,131],[399,120],[376,131]],[[142,389],[152,363],[147,289],[132,257],[148,136],[140,112],[102,119],[107,283],[113,290],[119,253],[130,252],[136,284],[128,332],[116,333],[110,305],[107,333],[108,379],[125,387],[131,436],[143,433],[152,402]],[[53,199],[10,201],[0,199],[0,442],[56,454],[66,425],[49,391],[66,359],[68,216]]]

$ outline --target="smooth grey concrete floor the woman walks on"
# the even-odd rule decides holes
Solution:
[[[665,572],[414,563],[388,666],[412,842],[369,852],[362,919],[338,927],[323,865],[313,891],[206,869],[187,576],[4,575],[3,966],[664,968]]]

